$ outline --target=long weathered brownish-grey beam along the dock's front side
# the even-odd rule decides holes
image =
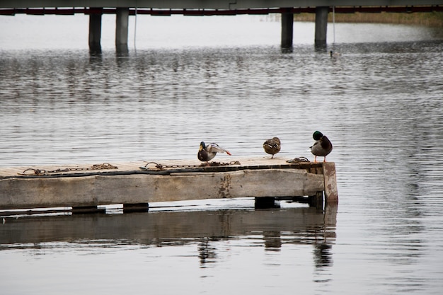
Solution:
[[[290,197],[315,195],[324,187],[323,175],[307,173],[304,169],[6,178],[0,180],[0,209]]]

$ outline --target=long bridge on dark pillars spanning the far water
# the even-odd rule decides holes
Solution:
[[[292,47],[294,14],[315,13],[315,45],[326,47],[328,13],[414,13],[443,11],[443,0],[0,0],[0,15],[18,13],[45,15],[89,15],[89,48],[101,50],[101,17],[116,15],[115,46],[127,51],[129,16],[235,16],[281,14],[281,46]]]

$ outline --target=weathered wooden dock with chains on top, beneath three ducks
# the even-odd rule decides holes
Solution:
[[[110,204],[143,209],[150,202],[236,197],[263,204],[304,196],[318,207],[323,195],[326,203],[338,202],[335,163],[293,160],[220,157],[209,166],[196,159],[0,168],[0,209]]]

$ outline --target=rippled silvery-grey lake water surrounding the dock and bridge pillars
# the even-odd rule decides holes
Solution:
[[[6,216],[1,294],[441,294],[441,30],[329,25],[318,51],[295,23],[288,53],[265,16],[130,21],[127,54],[103,16],[91,55],[87,16],[0,18],[0,166],[195,158],[202,140],[265,156],[273,136],[312,160],[318,129],[340,203]]]

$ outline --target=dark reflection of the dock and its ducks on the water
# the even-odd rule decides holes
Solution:
[[[313,245],[315,264],[330,264],[336,207],[72,214],[7,218],[0,226],[0,250],[45,248],[45,243],[180,246],[196,243],[200,262],[214,255],[216,241],[251,238],[266,250],[284,244]],[[210,259],[210,258],[209,258]]]

